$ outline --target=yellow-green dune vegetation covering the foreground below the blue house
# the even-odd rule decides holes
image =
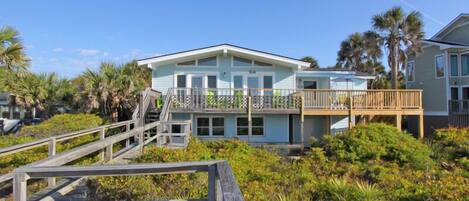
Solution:
[[[191,139],[186,150],[149,147],[134,162],[227,160],[245,200],[468,200],[467,142],[467,130],[441,130],[422,143],[370,124],[326,136],[299,159],[238,140]],[[103,200],[201,198],[207,174],[98,177],[90,185]]]

